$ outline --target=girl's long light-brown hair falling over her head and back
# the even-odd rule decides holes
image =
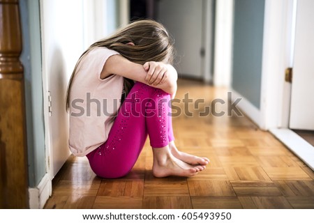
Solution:
[[[134,45],[127,45],[134,43]],[[165,27],[154,20],[140,20],[128,24],[109,38],[104,38],[92,44],[77,61],[70,77],[66,93],[66,109],[70,106],[70,88],[75,78],[75,72],[82,57],[96,47],[113,49],[121,56],[134,63],[144,64],[147,61],[166,61],[172,63],[174,59],[174,41]],[[132,88],[133,80],[124,78],[126,95]]]

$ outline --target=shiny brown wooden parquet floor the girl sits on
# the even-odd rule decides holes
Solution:
[[[193,102],[182,102],[188,93]],[[227,116],[227,102],[198,115],[227,90],[179,80],[174,136],[181,151],[209,157],[205,171],[191,178],[154,178],[149,141],[124,178],[98,178],[86,157],[71,156],[53,180],[45,208],[314,208],[314,173],[269,132],[246,116]],[[218,106],[219,105],[219,106]]]

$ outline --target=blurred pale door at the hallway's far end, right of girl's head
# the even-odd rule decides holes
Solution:
[[[157,1],[157,20],[175,40],[177,61],[174,67],[180,76],[203,78],[203,6],[203,1]]]

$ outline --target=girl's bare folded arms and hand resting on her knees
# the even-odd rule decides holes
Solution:
[[[151,61],[142,66],[117,54],[107,59],[100,78],[105,79],[112,74],[154,86],[171,95],[174,95],[177,91],[177,70],[170,64]]]

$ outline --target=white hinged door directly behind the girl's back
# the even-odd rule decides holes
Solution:
[[[65,97],[68,79],[84,50],[83,1],[43,0],[40,6],[46,146],[53,178],[70,155]],[[52,99],[50,115],[48,91]]]

